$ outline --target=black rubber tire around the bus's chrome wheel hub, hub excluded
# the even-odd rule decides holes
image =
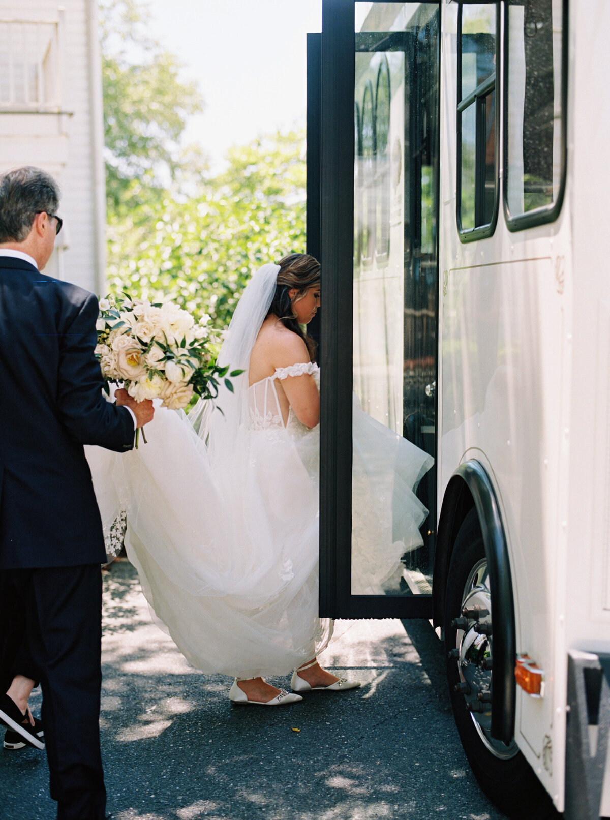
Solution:
[[[498,809],[514,820],[551,820],[559,818],[549,794],[535,776],[530,764],[516,747],[513,757],[498,758],[481,738],[465,696],[455,691],[460,683],[459,660],[449,653],[457,646],[453,618],[462,614],[462,596],[476,564],[485,559],[483,536],[476,509],[462,522],[449,564],[444,608],[444,640],[447,657],[447,680],[453,716],[468,763],[485,795]],[[508,749],[508,747],[505,747]]]

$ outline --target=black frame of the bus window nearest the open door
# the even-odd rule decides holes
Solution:
[[[483,0],[485,2],[485,0]],[[496,225],[498,224],[498,213],[500,210],[500,183],[499,183],[499,166],[500,166],[500,108],[502,103],[500,100],[500,3],[495,0],[494,5],[496,9],[496,33],[495,33],[495,71],[489,76],[487,80],[478,85],[474,91],[462,98],[462,10],[463,3],[461,2],[457,8],[457,164],[456,164],[456,221],[457,221],[457,235],[463,243],[474,242],[476,239],[486,239],[494,235]],[[468,5],[468,4],[467,4]],[[462,112],[471,105],[476,106],[476,142],[475,142],[475,222],[477,221],[477,214],[480,213],[481,208],[485,204],[485,162],[481,162],[480,152],[480,132],[485,126],[485,121],[482,116],[482,109],[485,105],[485,98],[495,91],[495,145],[494,145],[494,162],[495,162],[495,193],[494,193],[494,211],[489,222],[482,225],[475,225],[474,228],[462,228]],[[481,203],[482,200],[482,203]]]

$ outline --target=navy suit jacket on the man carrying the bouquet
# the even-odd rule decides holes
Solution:
[[[104,563],[83,444],[123,452],[130,412],[106,401],[98,300],[0,256],[0,570]]]

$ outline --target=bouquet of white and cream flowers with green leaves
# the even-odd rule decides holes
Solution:
[[[194,394],[215,398],[221,379],[233,389],[229,368],[216,367],[220,339],[208,326],[210,317],[196,323],[175,303],[151,304],[126,294],[103,298],[99,307],[95,354],[107,393],[109,383],[122,383],[136,401],[162,399],[163,407],[179,410]]]

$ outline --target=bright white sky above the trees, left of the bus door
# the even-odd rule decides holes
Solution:
[[[222,167],[227,148],[305,125],[306,34],[321,30],[321,0],[148,0],[151,33],[196,80],[196,143]]]

